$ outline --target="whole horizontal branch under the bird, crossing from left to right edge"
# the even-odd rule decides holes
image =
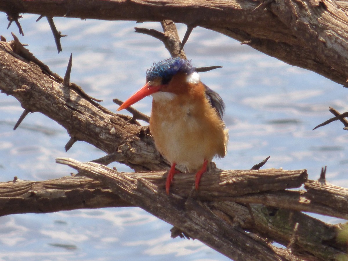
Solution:
[[[123,174],[133,179],[145,179],[164,190],[166,172]],[[221,172],[213,169],[202,177],[199,191],[193,190],[194,175],[190,173],[176,175],[171,191],[181,197],[191,195],[192,198],[203,201],[259,203],[348,219],[347,189],[330,184],[322,185],[306,178],[307,174],[302,170],[265,169]],[[303,183],[307,190],[285,190],[300,187]],[[91,192],[94,195],[93,199],[89,199]],[[0,205],[2,206],[0,216],[74,208],[131,206],[112,196],[108,187],[82,177],[64,177],[41,182],[22,180],[3,182],[0,183],[0,195]],[[69,195],[74,195],[75,200],[67,202],[66,198],[69,199]],[[19,202],[15,204],[19,209],[12,203],[9,204],[9,198]],[[36,204],[32,204],[34,198]]]

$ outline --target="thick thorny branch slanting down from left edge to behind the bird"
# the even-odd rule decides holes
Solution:
[[[106,153],[116,153],[119,162],[134,169],[167,168],[152,137],[147,135],[147,127],[128,123],[128,116],[100,106],[72,83],[64,86],[63,79],[44,68],[45,65],[35,63],[32,57],[19,56],[25,49],[20,47],[15,41],[11,45],[0,41],[3,93],[17,98],[25,110],[41,112],[58,122],[74,139],[93,144]],[[110,132],[112,128],[114,134]]]

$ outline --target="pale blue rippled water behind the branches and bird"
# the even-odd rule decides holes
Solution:
[[[57,54],[45,18],[20,20],[29,50],[50,69],[64,75],[73,53],[71,81],[102,99],[116,111],[112,98],[124,100],[145,81],[145,70],[169,56],[161,42],[134,33],[134,27],[161,30],[158,23],[102,22],[55,18],[63,52]],[[15,24],[6,30],[0,13],[0,34],[17,36]],[[178,25],[180,35],[186,27]],[[328,107],[346,111],[348,90],[313,72],[292,67],[212,31],[197,28],[185,46],[195,66],[222,65],[201,73],[201,80],[226,102],[228,155],[216,160],[223,169],[246,169],[271,156],[266,167],[308,169],[317,179],[327,165],[327,179],[348,187],[348,136],[334,122],[312,131],[332,117]],[[135,104],[149,114],[150,98]],[[57,157],[89,161],[105,155],[92,145],[77,142],[68,151],[69,136],[60,125],[39,113],[29,114],[16,131],[23,109],[11,96],[0,94],[0,181],[18,176],[46,180],[69,175],[72,169],[55,164]],[[117,166],[121,171],[128,167]],[[323,217],[326,221],[339,220]],[[198,240],[172,239],[171,226],[139,208],[104,208],[49,214],[0,217],[2,260],[227,260]]]

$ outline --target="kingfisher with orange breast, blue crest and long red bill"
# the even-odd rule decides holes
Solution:
[[[167,58],[153,63],[146,83],[120,105],[128,108],[152,96],[150,132],[157,150],[170,163],[166,192],[173,182],[176,164],[196,172],[198,189],[207,164],[227,152],[228,133],[222,120],[225,104],[219,94],[200,81],[196,68],[183,58]]]

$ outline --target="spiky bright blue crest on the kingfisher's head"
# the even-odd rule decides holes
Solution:
[[[162,84],[167,84],[178,72],[190,74],[195,71],[191,62],[179,57],[167,58],[158,63],[153,63],[152,67],[146,72],[146,81],[161,78]]]

